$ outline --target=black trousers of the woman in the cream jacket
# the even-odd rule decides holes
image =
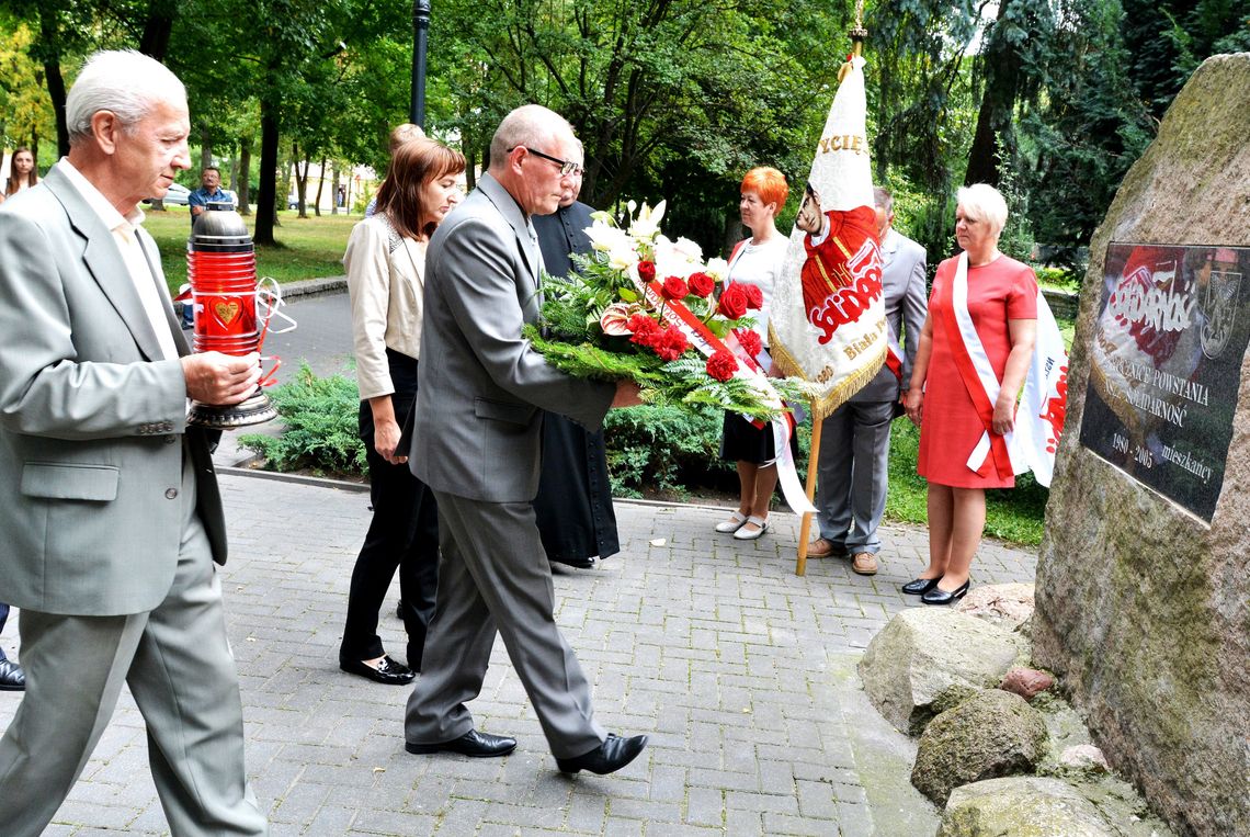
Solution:
[[[416,360],[386,350],[395,394],[395,418],[404,419],[416,400]],[[392,465],[374,449],[374,414],[360,403],[360,438],[369,460],[369,494],[374,519],[351,572],[348,618],[339,659],[374,659],[385,653],[378,616],[399,569],[400,613],[408,633],[408,666],[421,671],[425,633],[434,618],[439,586],[439,510],[434,492],[412,475],[408,464]]]

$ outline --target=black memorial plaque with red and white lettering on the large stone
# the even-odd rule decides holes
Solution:
[[[1081,444],[1208,523],[1224,484],[1250,338],[1250,248],[1118,244]]]

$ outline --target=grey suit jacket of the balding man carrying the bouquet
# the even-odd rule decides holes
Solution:
[[[530,502],[539,408],[598,428],[614,384],[571,378],[521,337],[538,319],[538,240],[490,174],[442,221],[425,255],[425,320],[412,473],[469,499]]]

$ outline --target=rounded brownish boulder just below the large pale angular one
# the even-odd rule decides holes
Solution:
[[[1045,746],[1046,724],[1024,698],[979,692],[925,727],[911,784],[942,806],[960,784],[1030,772]]]

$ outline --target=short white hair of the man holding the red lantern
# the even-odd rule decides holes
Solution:
[[[160,103],[186,103],[186,88],[169,68],[135,50],[96,53],[65,96],[70,145],[91,135],[91,118],[112,111],[131,130]]]

